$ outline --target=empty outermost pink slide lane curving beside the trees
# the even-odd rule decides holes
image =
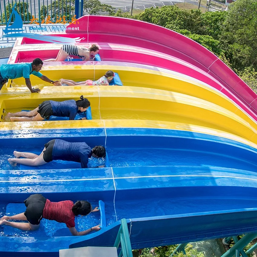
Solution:
[[[58,35],[81,37],[80,43],[107,42],[143,47],[184,60],[218,80],[224,87],[221,92],[257,120],[257,95],[216,55],[190,38],[158,25],[127,18],[92,15],[83,16],[78,22],[68,25],[66,34]],[[21,44],[38,43],[41,42],[24,38]]]

